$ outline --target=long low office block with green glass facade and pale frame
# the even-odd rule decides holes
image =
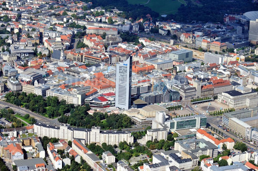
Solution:
[[[193,115],[167,120],[165,125],[171,132],[174,130],[206,127],[207,117],[205,115]]]

